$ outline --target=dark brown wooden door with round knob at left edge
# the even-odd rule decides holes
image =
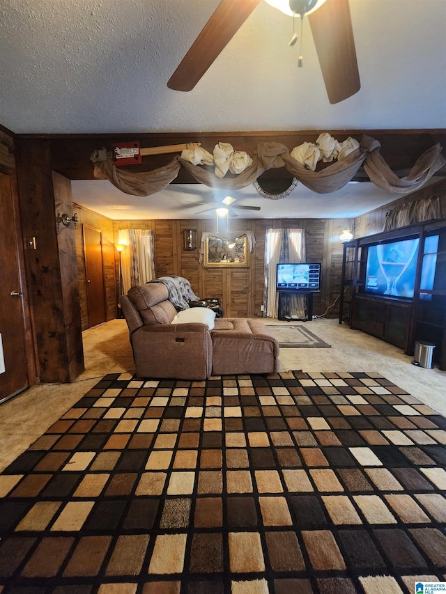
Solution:
[[[0,402],[28,387],[22,285],[11,178],[0,173]]]

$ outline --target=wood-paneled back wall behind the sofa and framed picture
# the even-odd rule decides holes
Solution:
[[[346,219],[233,219],[231,231],[236,236],[251,230],[256,246],[249,254],[247,268],[206,268],[199,263],[199,249],[183,249],[183,230],[214,231],[213,220],[114,221],[115,241],[124,228],[152,229],[155,237],[155,272],[157,276],[176,274],[187,278],[199,297],[220,297],[227,317],[263,317],[266,230],[269,228],[305,229],[307,260],[323,263],[322,290],[314,298],[314,315],[322,315],[339,296],[341,287],[342,244],[339,242]],[[327,317],[336,317],[337,304]]]

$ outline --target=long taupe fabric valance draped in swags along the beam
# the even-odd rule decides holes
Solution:
[[[220,189],[240,189],[246,187],[267,169],[285,167],[293,178],[318,194],[336,192],[344,187],[357,173],[360,166],[369,176],[371,182],[378,187],[394,192],[407,194],[420,189],[431,176],[445,164],[439,143],[426,150],[415,162],[409,175],[398,178],[380,155],[380,143],[370,136],[362,136],[359,148],[346,157],[339,158],[321,171],[312,171],[300,164],[291,156],[289,149],[277,142],[261,142],[257,145],[254,157],[238,175],[220,178],[214,169],[207,165],[194,165],[176,155],[164,167],[143,173],[132,173],[114,166],[112,154],[107,150],[95,150],[91,155],[94,163],[94,175],[97,179],[112,182],[121,192],[134,196],[151,196],[167,187],[178,175],[180,167],[184,167],[197,182],[208,187]],[[252,162],[251,162],[252,161]],[[221,173],[220,173],[221,175]]]

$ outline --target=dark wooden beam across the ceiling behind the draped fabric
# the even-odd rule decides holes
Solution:
[[[105,147],[112,150],[112,144],[119,141],[137,140],[143,150],[159,146],[187,144],[191,140],[197,141],[201,146],[213,152],[214,146],[219,142],[230,143],[235,150],[245,150],[248,155],[254,156],[260,142],[279,142],[289,150],[303,142],[315,142],[321,132],[329,132],[335,139],[344,141],[348,136],[360,140],[366,134],[378,140],[381,144],[380,153],[390,168],[398,175],[406,175],[425,150],[434,144],[440,143],[445,147],[446,129],[434,130],[295,130],[289,132],[198,132],[165,133],[165,134],[67,134],[37,136],[19,134],[16,136],[19,144],[26,143],[36,138],[45,138],[51,148],[52,169],[65,175],[70,180],[92,180],[93,163],[90,161],[93,150]],[[131,165],[128,171],[151,171],[171,162],[170,154],[150,155],[143,158],[141,165]],[[446,175],[446,168],[440,172]],[[275,169],[268,175],[277,178],[289,176],[284,168]],[[357,181],[368,180],[364,171],[358,171]],[[174,183],[197,183],[192,175],[183,168],[180,169],[178,178]]]

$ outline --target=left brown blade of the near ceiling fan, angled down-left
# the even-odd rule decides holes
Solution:
[[[260,0],[222,0],[170,77],[174,91],[191,91]]]

